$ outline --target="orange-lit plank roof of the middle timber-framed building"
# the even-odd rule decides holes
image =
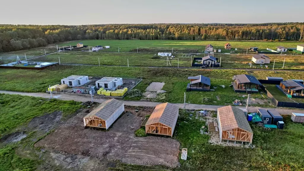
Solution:
[[[168,127],[173,127],[176,115],[178,115],[178,106],[171,103],[162,103],[155,107],[146,125],[161,123]]]

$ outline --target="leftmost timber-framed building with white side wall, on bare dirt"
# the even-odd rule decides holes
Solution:
[[[85,127],[108,129],[124,110],[122,101],[110,99],[101,103],[96,109],[87,114],[83,118],[83,123]]]

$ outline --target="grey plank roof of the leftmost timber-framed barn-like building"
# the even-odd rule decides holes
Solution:
[[[87,114],[86,117],[96,116],[102,120],[107,120],[115,111],[123,105],[123,102],[116,99],[110,99],[103,103],[101,103],[98,107],[96,107],[92,112]]]

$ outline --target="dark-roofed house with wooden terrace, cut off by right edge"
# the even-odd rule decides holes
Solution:
[[[289,79],[281,81],[280,86],[277,86],[286,95],[304,96],[303,80]]]

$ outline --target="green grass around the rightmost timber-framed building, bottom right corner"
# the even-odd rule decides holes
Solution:
[[[211,145],[209,136],[200,134],[205,121],[180,110],[174,137],[181,148],[188,148],[188,158],[176,170],[302,170],[304,169],[304,127],[284,117],[285,128],[264,131],[251,124],[256,148]],[[190,128],[190,129],[189,129]]]

